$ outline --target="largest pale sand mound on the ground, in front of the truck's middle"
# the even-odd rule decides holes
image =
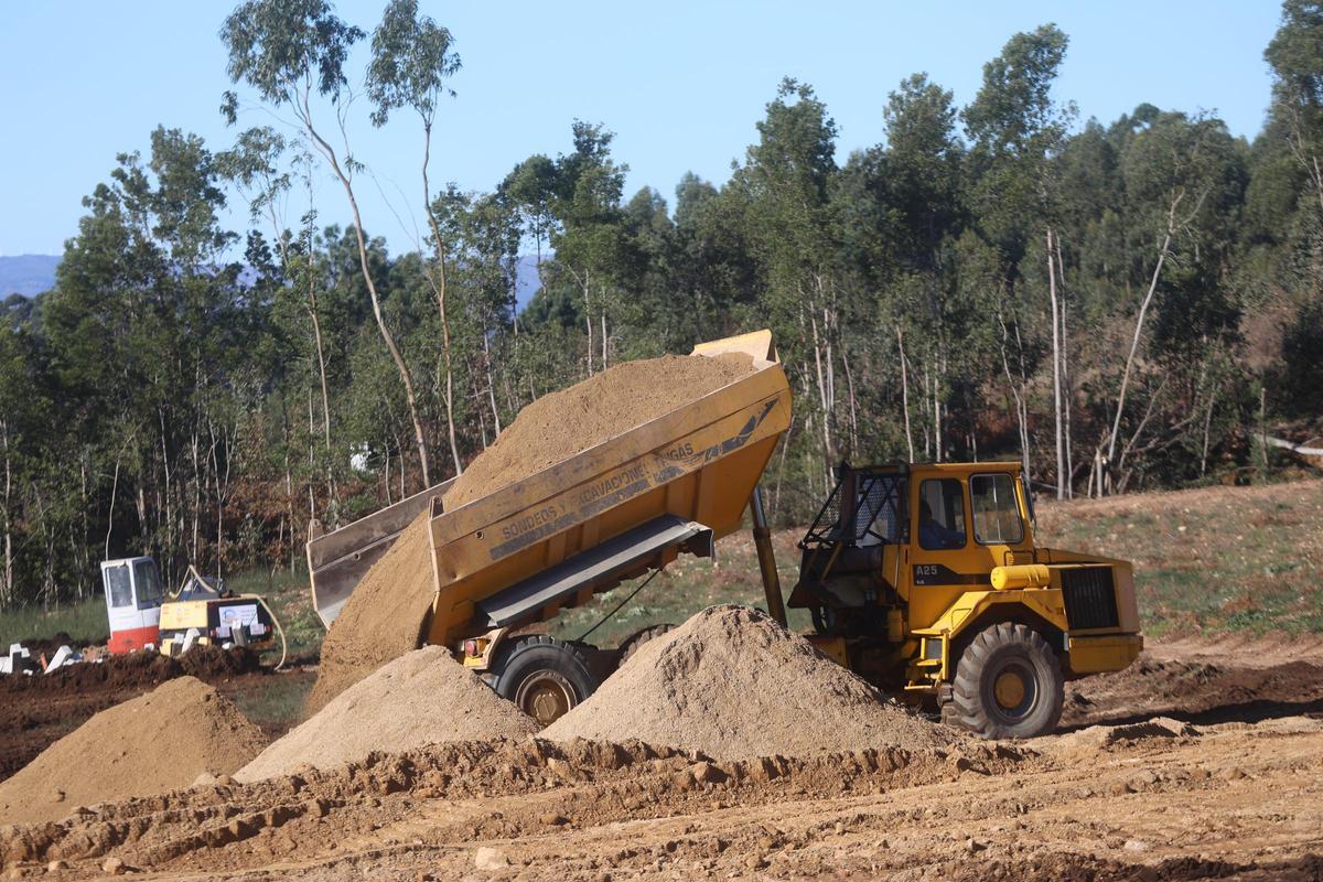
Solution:
[[[960,737],[894,703],[763,612],[717,606],[644,644],[542,731],[697,750],[716,759],[935,748]]]

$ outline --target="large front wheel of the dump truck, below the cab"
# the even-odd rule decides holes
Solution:
[[[1002,623],[964,649],[942,721],[979,738],[1035,738],[1056,729],[1064,701],[1052,648],[1037,631]]]

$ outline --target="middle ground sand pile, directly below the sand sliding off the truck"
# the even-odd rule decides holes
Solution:
[[[234,778],[255,782],[304,763],[332,768],[373,751],[398,754],[451,741],[515,738],[537,731],[441,647],[415,649],[349,686]]]

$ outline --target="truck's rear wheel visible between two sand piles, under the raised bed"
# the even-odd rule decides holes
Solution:
[[[497,665],[496,694],[549,726],[593,694],[597,680],[574,647],[546,635],[520,637]]]

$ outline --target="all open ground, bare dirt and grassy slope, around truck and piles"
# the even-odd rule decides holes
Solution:
[[[1068,684],[1048,738],[712,763],[636,743],[463,742],[0,828],[0,867],[52,879],[1323,878],[1323,483],[1043,506],[1040,529],[1135,559],[1156,635],[1130,669]],[[777,542],[790,578],[794,533]],[[611,627],[754,602],[745,545],[722,542],[716,565],[684,561]],[[275,735],[311,677],[212,681]],[[41,730],[16,714],[71,727],[146,688],[4,694],[0,730]]]

